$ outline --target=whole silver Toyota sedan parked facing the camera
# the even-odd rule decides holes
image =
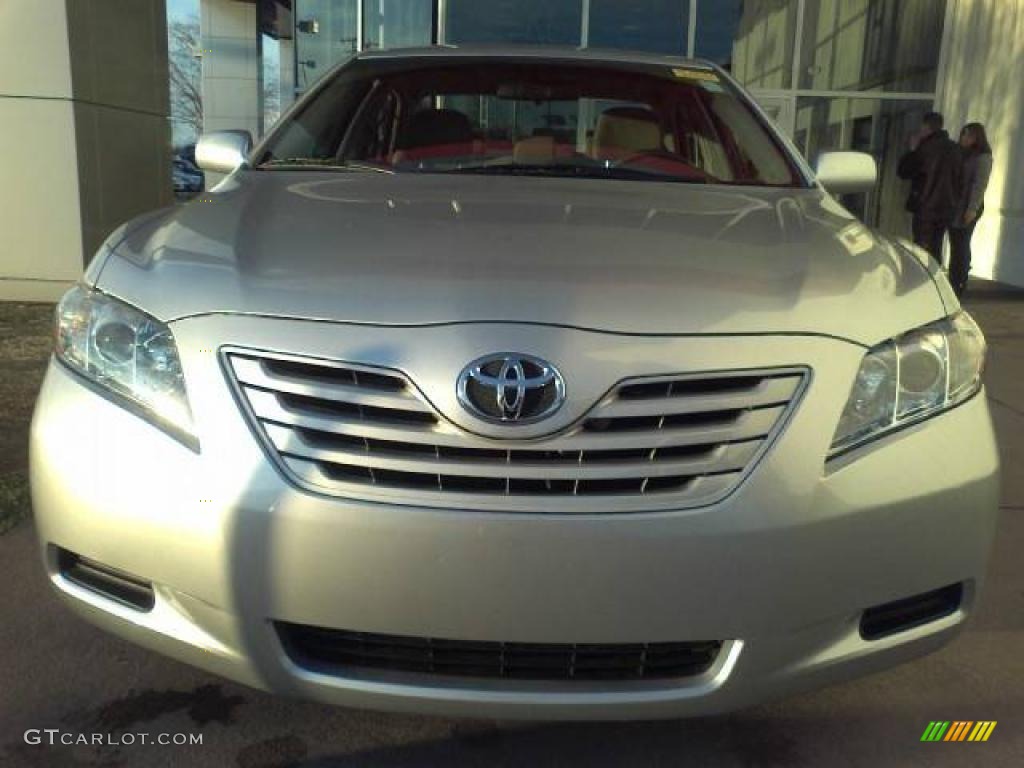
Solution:
[[[259,688],[723,712],[971,614],[984,355],[712,67],[362,55],[61,300],[38,532],[81,614]]]

